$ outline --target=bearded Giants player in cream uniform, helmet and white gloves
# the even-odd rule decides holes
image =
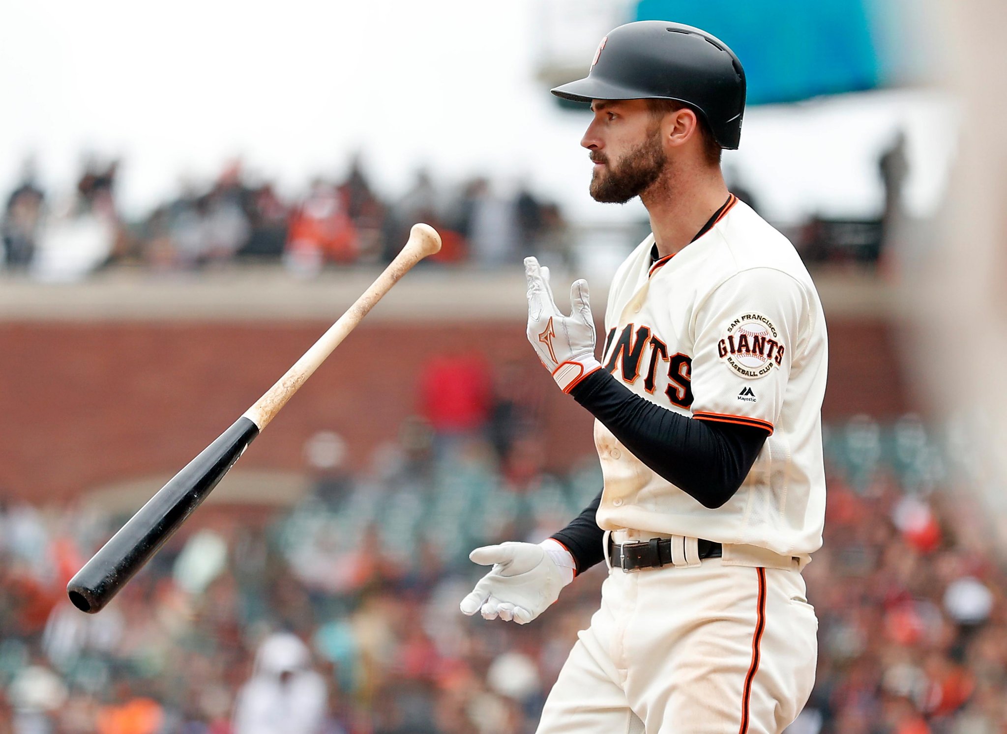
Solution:
[[[782,731],[815,678],[801,572],[822,544],[827,342],[794,247],[721,175],[741,63],[698,28],[629,23],[553,94],[591,105],[591,195],[639,196],[653,234],[612,280],[600,361],[587,283],[566,315],[525,261],[528,338],[596,418],[604,487],[539,545],[474,550],[492,570],[461,609],[524,624],[604,562],[540,734]]]

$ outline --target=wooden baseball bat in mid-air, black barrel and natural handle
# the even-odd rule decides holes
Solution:
[[[414,265],[440,250],[440,237],[432,227],[413,226],[402,252],[321,338],[231,428],[168,480],[77,572],[66,585],[66,593],[74,606],[92,614],[105,608],[199,506],[255,437],[382,296]]]

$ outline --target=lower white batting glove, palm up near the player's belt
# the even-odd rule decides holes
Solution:
[[[476,548],[468,557],[480,566],[493,564],[472,593],[461,600],[469,616],[482,611],[486,619],[528,624],[559,598],[573,581],[573,557],[554,540],[503,543]]]

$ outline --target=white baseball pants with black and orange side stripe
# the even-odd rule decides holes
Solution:
[[[781,732],[815,683],[818,619],[797,564],[729,563],[610,569],[538,734]]]

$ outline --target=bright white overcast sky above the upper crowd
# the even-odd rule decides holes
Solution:
[[[425,163],[441,181],[526,178],[583,222],[641,216],[586,193],[586,118],[535,80],[542,1],[0,3],[0,192],[28,152],[67,190],[90,151],[123,158],[120,199],[138,213],[235,156],[294,192],[359,150],[388,195]],[[770,217],[870,215],[877,153],[904,124],[910,204],[928,210],[953,120],[925,92],[752,109],[725,160]]]

